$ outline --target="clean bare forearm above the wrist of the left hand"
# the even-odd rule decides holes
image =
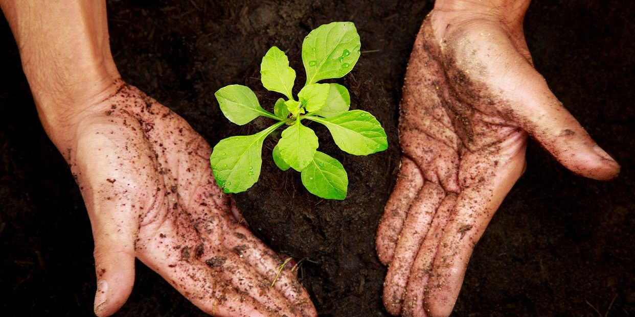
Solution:
[[[0,0],[0,6],[44,129],[55,142],[55,130],[71,124],[98,96],[111,93],[119,77],[110,54],[105,1]]]

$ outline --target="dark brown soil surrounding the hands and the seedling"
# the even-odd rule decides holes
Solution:
[[[432,3],[289,2],[112,0],[112,50],[126,81],[185,117],[214,145],[267,124],[230,124],[213,96],[218,88],[246,84],[271,107],[277,96],[264,90],[258,75],[265,51],[272,45],[287,51],[298,88],[304,82],[300,44],[309,30],[355,22],[363,55],[338,82],[349,87],[353,108],[384,124],[389,150],[344,155],[316,127],[321,150],[349,174],[349,197],[330,202],[309,195],[298,173],[274,167],[270,140],[260,181],[236,200],[265,242],[307,259],[302,281],[321,316],[385,316],[375,228],[399,162],[406,61]],[[622,174],[611,183],[574,176],[531,143],[526,174],[474,251],[455,316],[635,315],[634,10],[631,0],[531,4],[525,25],[536,67],[622,164]],[[4,21],[0,48],[0,316],[90,316],[95,271],[79,190],[37,120]],[[133,294],[117,316],[203,313],[139,264]]]

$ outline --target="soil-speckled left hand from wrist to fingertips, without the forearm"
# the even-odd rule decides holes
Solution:
[[[53,131],[90,216],[95,313],[124,304],[137,257],[213,316],[316,316],[291,266],[236,220],[208,143],[137,88],[117,85],[68,120],[77,124]]]

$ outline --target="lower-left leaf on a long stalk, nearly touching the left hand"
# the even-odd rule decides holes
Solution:
[[[262,165],[262,141],[284,122],[250,136],[220,140],[210,156],[214,178],[225,193],[246,191],[258,181]]]

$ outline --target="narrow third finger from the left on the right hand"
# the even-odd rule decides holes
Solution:
[[[424,242],[419,248],[417,258],[410,270],[406,295],[403,301],[404,317],[426,316],[423,302],[425,286],[432,272],[432,261],[434,261],[434,256],[439,247],[443,229],[451,217],[456,201],[457,195],[449,193],[441,202],[436,214],[434,214],[430,230],[425,235]]]

